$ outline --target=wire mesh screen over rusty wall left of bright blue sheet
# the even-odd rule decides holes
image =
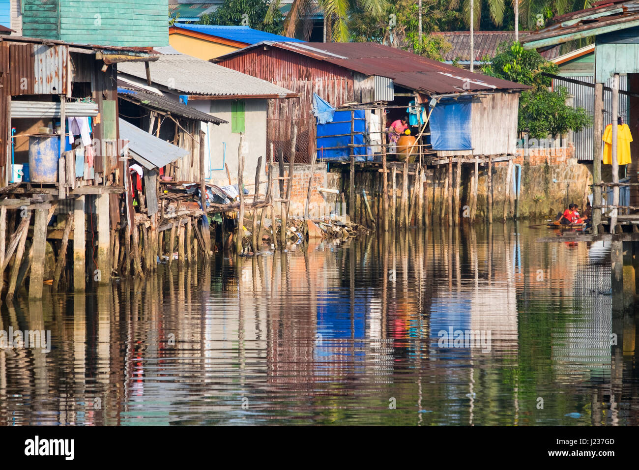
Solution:
[[[293,152],[293,129],[297,127],[295,139],[295,163],[311,163],[311,155],[315,152],[315,118],[268,118],[267,151],[270,159],[271,145],[273,162],[291,161]]]

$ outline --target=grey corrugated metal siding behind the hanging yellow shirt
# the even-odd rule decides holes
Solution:
[[[575,80],[581,80],[583,82],[594,83],[592,75],[590,77],[584,77],[578,75],[575,77],[567,77]],[[627,75],[621,75],[619,81],[619,89],[627,90],[628,77]],[[560,80],[553,80],[553,87],[565,86],[569,93],[574,96],[573,106],[583,107],[590,116],[594,114],[594,89],[589,86],[583,86],[576,83],[569,83]],[[608,79],[605,86],[612,86],[612,78]],[[628,122],[628,97],[626,95],[619,95],[619,113],[624,118],[624,122]],[[612,91],[604,90],[604,114],[603,122],[604,126],[610,123],[612,119]],[[593,130],[592,126],[582,129],[579,132],[573,132],[574,142],[574,156],[578,160],[592,161],[592,138]],[[633,136],[633,138],[639,138]]]

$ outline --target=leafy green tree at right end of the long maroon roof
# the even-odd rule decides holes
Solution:
[[[549,90],[552,79],[543,72],[556,74],[557,65],[544,60],[537,51],[527,51],[517,42],[504,43],[492,63],[482,69],[486,75],[532,86],[521,93],[518,131],[527,132],[533,139],[544,139],[549,134],[557,137],[592,123],[585,109],[566,105],[566,87]]]

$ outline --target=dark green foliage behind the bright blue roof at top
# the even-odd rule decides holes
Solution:
[[[277,10],[269,22],[265,22],[268,0],[224,0],[213,13],[202,15],[197,24],[219,24],[220,26],[245,26],[279,35],[282,33],[284,17]],[[244,16],[246,15],[246,16]]]

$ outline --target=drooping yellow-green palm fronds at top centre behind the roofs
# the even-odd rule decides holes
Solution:
[[[266,13],[266,23],[272,20],[273,13],[279,10],[280,6],[281,0],[271,1]],[[284,20],[283,33],[292,37],[302,27],[307,31],[311,13],[319,8],[324,13],[327,35],[330,35],[334,42],[347,42],[350,39],[348,31],[350,13],[356,9],[369,13],[381,13],[385,6],[386,0],[293,0],[291,10]]]

